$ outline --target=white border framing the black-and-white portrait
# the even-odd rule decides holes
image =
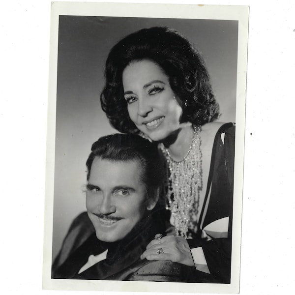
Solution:
[[[157,9],[155,9],[155,5],[157,6]],[[240,273],[249,7],[191,4],[53,2],[51,8],[52,16],[47,127],[43,289],[124,292],[238,293]],[[231,284],[129,281],[111,282],[101,280],[51,279],[59,15],[216,19],[238,21],[236,149]],[[168,288],[167,284],[172,285],[169,285]]]

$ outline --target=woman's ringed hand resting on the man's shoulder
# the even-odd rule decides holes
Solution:
[[[162,249],[162,251],[160,249]],[[140,258],[161,261],[170,260],[186,266],[195,265],[189,245],[182,236],[168,235],[159,240],[153,239]]]

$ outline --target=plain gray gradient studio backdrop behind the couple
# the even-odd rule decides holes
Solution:
[[[220,121],[235,121],[237,21],[59,17],[53,259],[71,221],[85,211],[85,162],[91,144],[116,132],[100,107],[104,62],[115,43],[142,28],[177,29],[203,54],[220,104]]]

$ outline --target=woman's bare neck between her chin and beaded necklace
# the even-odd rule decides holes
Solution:
[[[191,145],[193,134],[194,128],[192,124],[184,123],[175,134],[163,141],[165,148],[169,150],[171,157],[175,161],[181,161],[185,157]]]

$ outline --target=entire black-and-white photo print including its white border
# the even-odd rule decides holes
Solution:
[[[248,7],[51,8],[43,289],[238,293]]]

